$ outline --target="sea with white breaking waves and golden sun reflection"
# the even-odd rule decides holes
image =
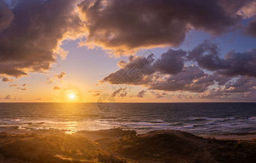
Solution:
[[[69,131],[122,128],[138,134],[175,129],[192,134],[256,131],[256,103],[0,103],[0,127]]]

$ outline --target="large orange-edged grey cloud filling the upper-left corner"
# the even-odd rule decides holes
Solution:
[[[78,37],[76,1],[21,1],[11,11],[0,3],[0,74],[47,71],[57,56],[67,55],[59,47],[62,40]]]

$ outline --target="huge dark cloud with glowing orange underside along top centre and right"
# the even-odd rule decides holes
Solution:
[[[227,32],[241,20],[235,11],[247,3],[86,0],[78,8],[88,33],[84,44],[123,55],[141,47],[177,46],[191,29],[213,35]]]

